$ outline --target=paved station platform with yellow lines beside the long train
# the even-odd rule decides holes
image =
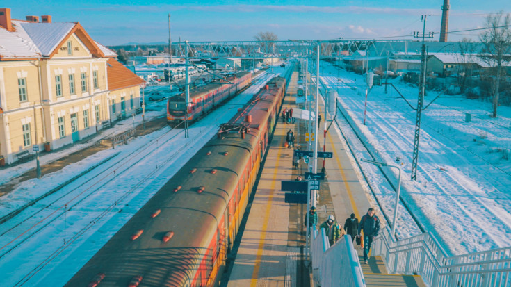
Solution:
[[[298,71],[295,71],[291,75],[283,108],[297,107],[297,82]],[[317,138],[321,148],[318,147],[318,151],[323,150],[323,122],[321,124]],[[242,229],[243,236],[234,263],[229,268],[229,279],[222,282],[222,286],[311,286],[311,270],[304,264],[307,204],[285,203],[285,192],[280,190],[281,181],[294,180],[298,174],[307,172],[307,165],[302,162],[298,169],[293,169],[293,148],[284,147],[289,129],[295,133],[295,147],[307,150],[306,124],[302,120],[284,124],[281,119],[268,147],[259,185]],[[362,218],[371,204],[352,166],[349,151],[333,126],[325,142],[326,151],[332,151],[333,158],[325,159],[327,178],[321,181],[316,203],[318,225],[330,214],[343,225],[351,213]],[[323,158],[318,159],[317,172],[321,172],[322,167]],[[362,262],[362,249],[359,246],[355,249]],[[380,256],[372,256],[368,264],[362,264],[362,270],[366,286],[425,286],[419,276],[387,274]]]

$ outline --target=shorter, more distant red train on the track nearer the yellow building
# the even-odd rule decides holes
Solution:
[[[188,120],[197,120],[198,117],[209,113],[217,104],[236,95],[237,92],[252,83],[252,73],[238,72],[227,76],[226,80],[218,83],[209,83],[190,90],[188,103]],[[167,121],[182,122],[186,117],[186,95],[182,92],[172,96],[167,101]]]

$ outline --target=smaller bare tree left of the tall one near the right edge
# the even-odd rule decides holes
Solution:
[[[476,45],[471,39],[463,38],[455,46],[456,48],[453,51],[453,58],[456,61],[454,72],[456,73],[460,92],[464,93],[467,87],[467,79],[472,76],[474,64],[476,63]]]

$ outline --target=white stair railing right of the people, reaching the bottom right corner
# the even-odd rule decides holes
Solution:
[[[371,253],[390,274],[419,274],[430,286],[511,286],[511,247],[448,257],[428,232],[396,242],[387,227]]]

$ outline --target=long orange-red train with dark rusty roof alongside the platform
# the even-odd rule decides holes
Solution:
[[[66,286],[218,286],[282,106],[270,80]]]

